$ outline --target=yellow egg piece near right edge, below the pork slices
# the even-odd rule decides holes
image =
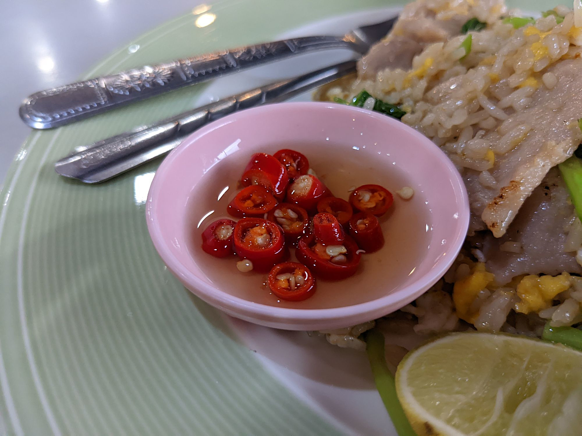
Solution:
[[[560,292],[570,288],[570,274],[562,273],[560,276],[525,276],[517,285],[517,295],[520,302],[516,303],[516,312],[539,312],[549,308],[552,300]]]

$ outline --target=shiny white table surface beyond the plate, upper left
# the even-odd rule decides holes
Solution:
[[[0,187],[30,133],[18,116],[34,91],[71,83],[98,60],[202,0],[16,0],[2,4]],[[211,0],[206,0],[211,3]]]

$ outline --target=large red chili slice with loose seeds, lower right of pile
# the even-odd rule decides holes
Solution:
[[[332,247],[317,244],[315,236],[310,234],[299,240],[295,255],[297,260],[309,267],[315,276],[327,280],[342,280],[353,276],[360,265],[361,259],[356,242],[346,236],[345,240],[343,240],[343,247],[345,247],[346,252],[337,256],[329,255],[328,248]],[[343,259],[338,259],[339,256],[343,256]]]

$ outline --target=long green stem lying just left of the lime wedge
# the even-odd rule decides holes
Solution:
[[[384,335],[376,328],[372,328],[364,333],[364,340],[366,342],[365,351],[368,354],[368,360],[370,360],[372,374],[374,374],[374,383],[396,428],[396,433],[399,436],[416,436],[404,414],[402,405],[400,405],[398,395],[396,395],[394,376],[386,365]]]

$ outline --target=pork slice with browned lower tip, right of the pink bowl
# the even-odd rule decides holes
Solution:
[[[496,156],[489,172],[498,188],[495,195],[480,199],[485,204],[481,218],[495,237],[505,234],[549,169],[569,158],[582,140],[577,123],[582,118],[582,60],[563,60],[548,71],[558,77],[558,84],[552,90],[540,87],[526,109],[510,115],[499,129],[485,135],[487,140],[503,142],[508,137],[502,133],[518,126],[527,130],[523,141]]]

